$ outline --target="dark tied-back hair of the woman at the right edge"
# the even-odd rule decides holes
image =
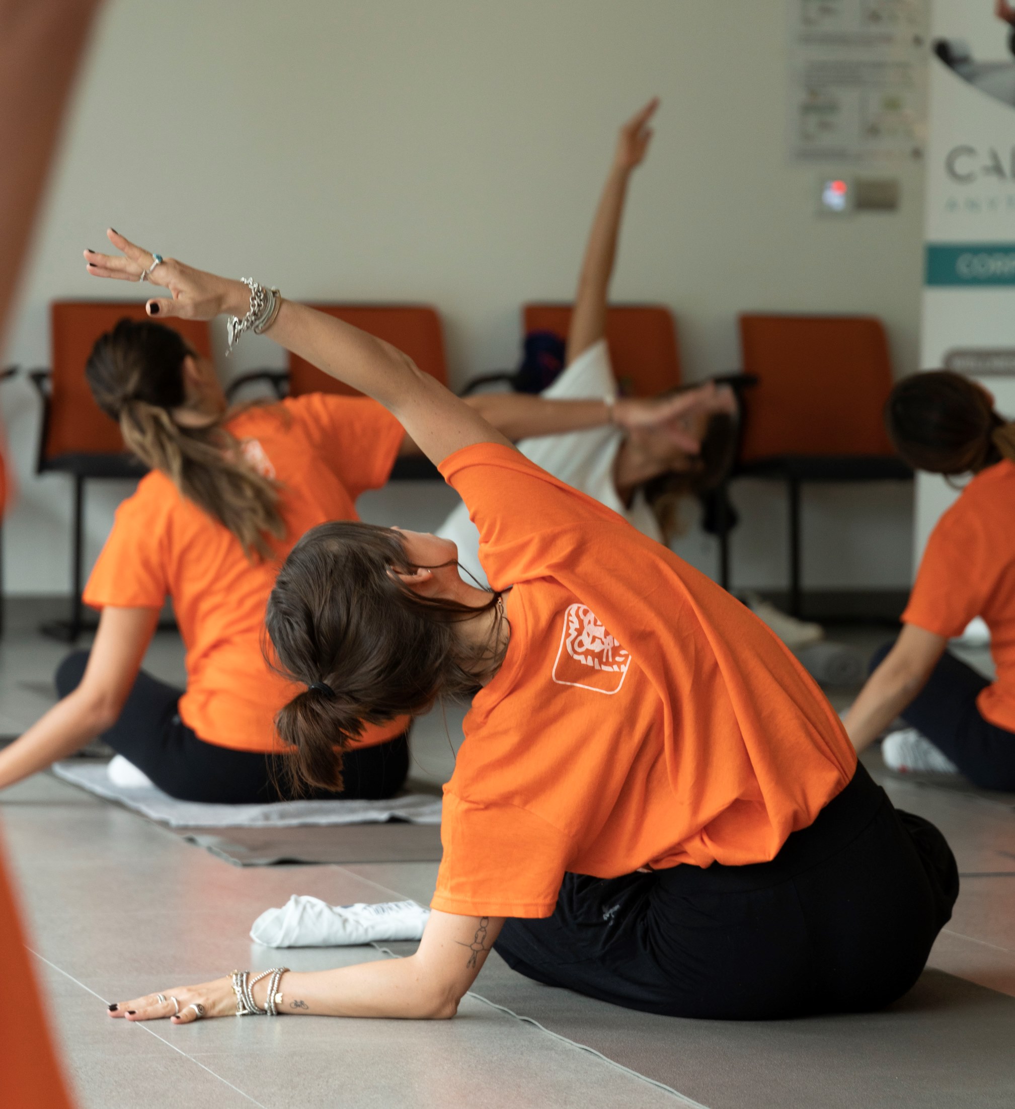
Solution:
[[[997,415],[986,389],[950,369],[899,381],[884,420],[895,449],[914,469],[951,477],[978,474],[1003,458],[1015,461],[1015,425]]]

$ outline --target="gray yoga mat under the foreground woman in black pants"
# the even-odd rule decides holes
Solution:
[[[883,1013],[759,1022],[621,1009],[530,981],[496,953],[474,993],[709,1109],[1015,1105],[1015,998],[940,970]]]

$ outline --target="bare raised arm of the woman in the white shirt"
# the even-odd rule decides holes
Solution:
[[[617,256],[617,240],[623,216],[628,179],[631,171],[641,164],[649,149],[652,130],[649,120],[656,114],[659,100],[650,100],[641,111],[620,129],[613,164],[606,179],[589,241],[585,248],[575,311],[568,332],[567,362],[570,365],[593,343],[606,335],[607,297],[613,260]]]

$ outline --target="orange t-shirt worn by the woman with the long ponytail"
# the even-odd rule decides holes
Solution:
[[[205,742],[284,750],[274,718],[296,686],[262,654],[264,610],[278,568],[308,529],[355,520],[356,498],[384,485],[404,431],[373,400],[309,394],[250,408],[230,421],[247,460],[283,486],[277,560],[251,563],[240,541],[153,470],[116,510],[84,600],[93,608],[161,608],[166,597],[186,648],[183,722]],[[359,743],[405,731],[371,728]]]

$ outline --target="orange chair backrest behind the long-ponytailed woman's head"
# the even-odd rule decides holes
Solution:
[[[69,454],[115,455],[124,449],[120,428],[92,399],[84,377],[84,365],[95,339],[124,318],[148,319],[144,303],[54,301],[50,306],[52,378],[43,459]],[[180,332],[197,354],[211,357],[206,323],[172,318],[159,323]]]

